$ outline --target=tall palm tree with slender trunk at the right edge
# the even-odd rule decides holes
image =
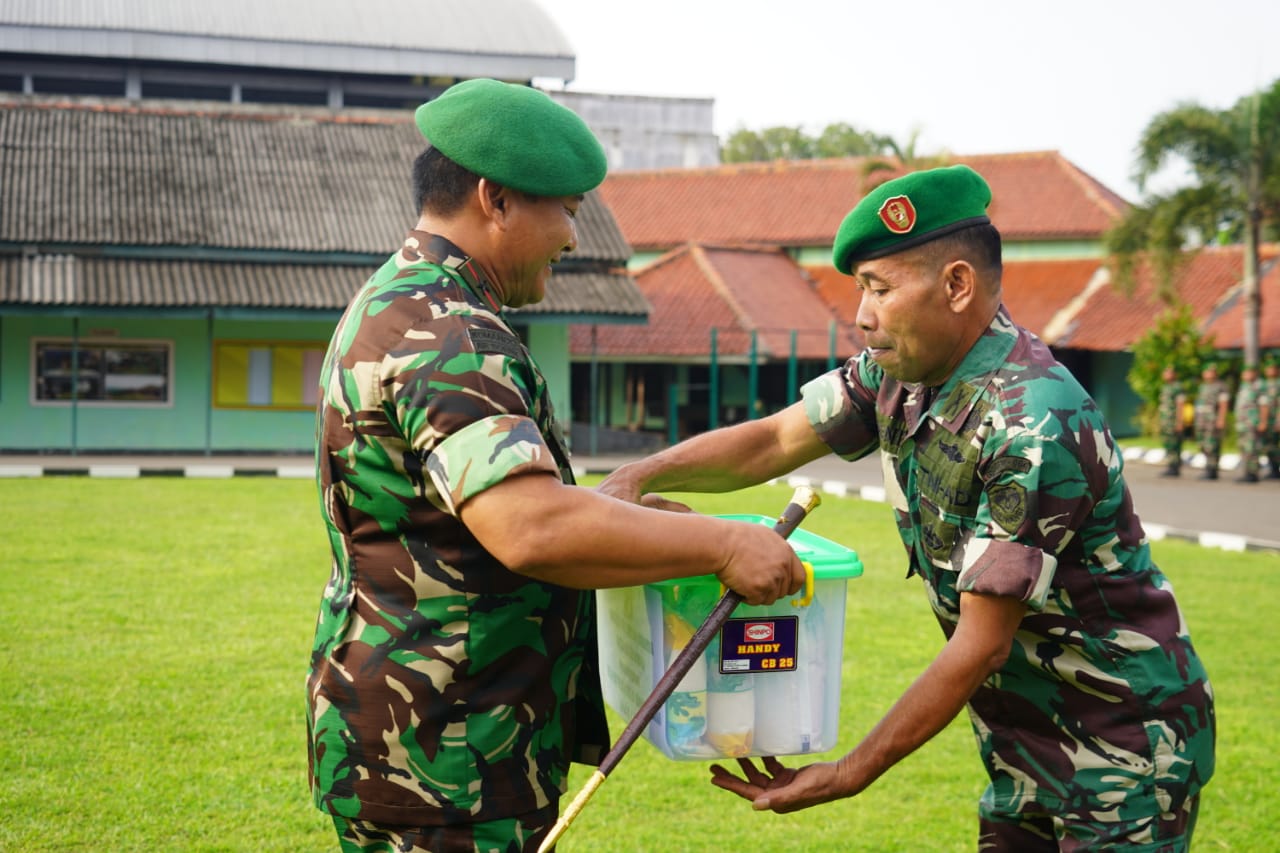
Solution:
[[[1174,304],[1184,248],[1206,240],[1243,242],[1244,364],[1257,365],[1258,245],[1280,222],[1280,81],[1228,110],[1183,104],[1153,118],[1138,143],[1138,188],[1175,156],[1188,163],[1196,183],[1149,196],[1106,234],[1116,284],[1132,289],[1137,260],[1149,257],[1157,292]]]

